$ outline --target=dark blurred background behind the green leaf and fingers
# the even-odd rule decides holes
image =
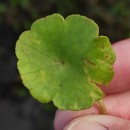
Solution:
[[[56,108],[30,96],[15,56],[19,35],[52,13],[92,18],[112,43],[130,37],[130,0],[0,0],[0,130],[54,130]]]

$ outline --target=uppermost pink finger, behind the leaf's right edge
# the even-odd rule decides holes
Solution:
[[[101,87],[106,94],[130,89],[130,38],[114,43],[113,49],[116,53],[115,75],[109,87]]]

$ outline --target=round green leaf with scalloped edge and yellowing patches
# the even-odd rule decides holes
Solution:
[[[18,70],[34,98],[59,109],[89,108],[113,77],[115,54],[91,19],[53,14],[33,23],[16,44]]]

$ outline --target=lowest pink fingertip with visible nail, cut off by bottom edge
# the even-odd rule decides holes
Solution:
[[[63,130],[128,130],[130,121],[108,116],[89,115],[72,120]]]

